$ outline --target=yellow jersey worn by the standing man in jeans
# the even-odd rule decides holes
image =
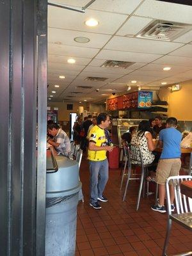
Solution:
[[[104,129],[100,128],[98,125],[93,126],[89,133],[89,141],[94,142],[98,147],[106,146],[106,135]],[[91,161],[102,161],[106,158],[106,150],[88,150],[88,159]]]

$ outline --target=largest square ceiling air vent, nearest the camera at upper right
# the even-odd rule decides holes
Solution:
[[[143,29],[136,37],[153,40],[172,41],[186,33],[192,26],[188,24],[155,20]]]

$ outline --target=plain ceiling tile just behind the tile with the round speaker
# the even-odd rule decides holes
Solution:
[[[69,46],[69,45],[58,45],[48,44],[48,54],[65,55],[71,58],[92,58],[97,54],[99,49],[90,48],[89,50],[85,47]]]

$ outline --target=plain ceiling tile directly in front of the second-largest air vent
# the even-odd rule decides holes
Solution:
[[[147,63],[150,61],[157,60],[162,55],[160,54],[147,54],[140,52],[125,52],[125,51],[111,51],[102,50],[97,54],[97,58],[104,60],[119,60],[119,61],[132,61],[132,62],[143,62]]]

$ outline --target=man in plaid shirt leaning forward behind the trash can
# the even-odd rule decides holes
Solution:
[[[49,139],[47,142],[54,146],[58,154],[63,156],[70,156],[70,140],[62,129],[57,124],[49,124],[47,127],[49,134],[53,136],[53,139]]]

